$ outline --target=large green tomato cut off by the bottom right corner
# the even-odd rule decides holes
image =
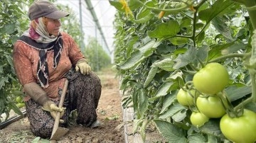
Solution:
[[[220,120],[223,135],[235,143],[256,142],[256,113],[244,109],[242,116],[230,118],[227,114]]]

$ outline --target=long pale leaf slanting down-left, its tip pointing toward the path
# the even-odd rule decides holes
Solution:
[[[146,52],[152,52],[156,50],[156,47],[154,47],[155,44],[156,44],[155,40],[151,40],[147,42],[144,46],[132,52],[131,57],[129,57],[124,63],[117,65],[117,67],[119,69],[127,70],[137,66],[137,64],[139,64],[140,62],[142,62],[143,59],[146,58],[144,57],[144,54]]]

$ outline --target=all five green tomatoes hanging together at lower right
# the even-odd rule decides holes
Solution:
[[[235,118],[226,113],[226,108],[230,107],[227,107],[228,101],[223,100],[227,96],[223,90],[228,82],[229,74],[222,64],[206,64],[193,76],[193,88],[183,87],[178,91],[177,101],[187,107],[196,107],[190,116],[192,125],[201,127],[210,118],[220,118],[220,130],[227,139],[236,143],[254,143],[256,113],[244,109],[243,114],[236,114]]]

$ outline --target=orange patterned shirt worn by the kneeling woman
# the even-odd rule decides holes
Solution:
[[[73,65],[75,66],[79,59],[84,58],[75,40],[67,33],[61,34],[63,36],[63,50],[57,68],[53,69],[53,50],[47,52],[49,86],[43,88],[43,90],[53,100],[58,99],[58,88],[63,88],[64,86],[65,78],[63,76],[65,76]],[[38,83],[37,67],[39,50],[36,50],[25,42],[17,41],[14,45],[13,54],[14,68],[21,85],[23,86],[31,82]],[[25,101],[28,101],[29,98],[27,96]]]

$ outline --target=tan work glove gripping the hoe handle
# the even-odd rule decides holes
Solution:
[[[60,118],[62,118],[65,113],[65,108],[58,108],[57,105],[55,105],[55,103],[53,103],[53,101],[46,101],[43,104],[42,109],[50,112],[50,115],[54,118],[54,120],[55,120],[58,112],[60,112]],[[64,120],[60,119],[60,122],[63,123]]]

